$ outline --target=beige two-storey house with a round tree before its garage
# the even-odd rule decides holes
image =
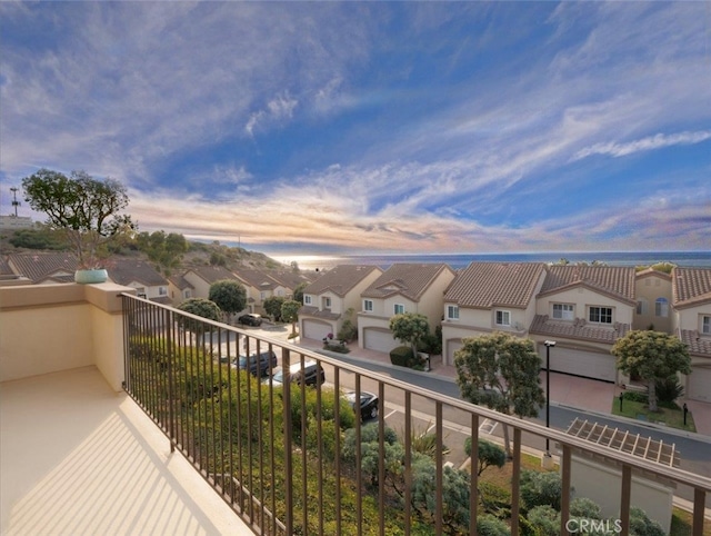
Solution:
[[[442,320],[444,290],[454,279],[445,264],[394,264],[361,294],[358,340],[361,348],[390,351],[390,318],[402,312],[424,315],[433,330]]]

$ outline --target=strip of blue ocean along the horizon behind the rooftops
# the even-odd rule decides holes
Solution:
[[[608,266],[650,266],[673,262],[678,266],[711,268],[711,251],[602,251],[602,252],[535,252],[535,254],[462,254],[462,255],[294,255],[274,257],[290,265],[296,261],[303,270],[328,270],[338,265],[368,265],[388,269],[395,262],[445,262],[452,269],[465,268],[471,262],[558,262],[593,261]]]

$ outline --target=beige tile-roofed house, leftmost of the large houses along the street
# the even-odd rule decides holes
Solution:
[[[302,338],[334,337],[349,311],[360,310],[361,294],[382,274],[377,266],[339,265],[324,271],[303,290],[299,309],[299,332]],[[353,318],[354,319],[354,318]]]

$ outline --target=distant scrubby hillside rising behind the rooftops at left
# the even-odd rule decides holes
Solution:
[[[182,264],[173,272],[196,266],[219,265],[228,269],[256,268],[261,270],[291,269],[281,262],[258,251],[229,247],[219,242],[203,244],[189,241],[190,249],[183,255]],[[0,255],[29,251],[71,251],[61,234],[47,229],[7,230],[0,234]],[[124,245],[117,257],[146,259],[148,256],[139,251],[133,244]]]

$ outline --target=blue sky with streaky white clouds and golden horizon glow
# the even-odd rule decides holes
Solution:
[[[0,211],[47,167],[272,255],[708,250],[710,34],[704,2],[3,1]]]

